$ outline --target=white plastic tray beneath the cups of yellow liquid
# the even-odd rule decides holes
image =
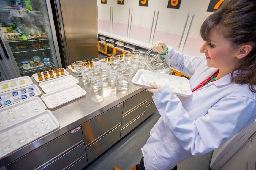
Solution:
[[[25,80],[25,84],[20,85],[19,80]],[[16,82],[16,86],[12,87],[10,82]],[[4,89],[1,86],[2,84],[5,84],[5,83],[8,84],[8,88],[6,88],[6,89]],[[13,90],[13,89],[16,89],[16,88],[24,87],[24,86],[27,86],[27,85],[31,85],[31,84],[33,84],[33,82],[32,82],[32,80],[30,79],[29,76],[23,76],[23,77],[18,77],[18,78],[11,79],[11,80],[5,80],[5,81],[0,82],[0,93],[5,92],[5,91],[9,91],[9,90]]]

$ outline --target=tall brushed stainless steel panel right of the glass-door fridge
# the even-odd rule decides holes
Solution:
[[[67,63],[98,58],[97,1],[59,0]]]

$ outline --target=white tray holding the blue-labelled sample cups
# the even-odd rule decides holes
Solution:
[[[29,91],[30,88],[32,88],[33,91]],[[23,93],[23,94],[26,94],[26,98],[21,98],[20,94],[21,94],[22,90],[26,90],[26,93]],[[12,93],[14,93],[14,92],[18,93],[18,96],[19,96],[18,99],[14,99],[14,96],[12,95]],[[35,96],[39,96],[41,94],[42,94],[41,90],[37,87],[37,85],[34,85],[34,84],[31,84],[31,85],[28,85],[25,87],[21,87],[18,89],[10,90],[10,91],[4,92],[4,93],[0,93],[0,96],[2,98],[2,100],[1,100],[2,106],[0,106],[0,108],[12,105],[14,103],[19,103],[21,101],[27,100],[29,98],[33,98]],[[10,100],[9,104],[5,104],[5,102],[4,102],[4,100],[7,98],[9,98],[9,100]]]

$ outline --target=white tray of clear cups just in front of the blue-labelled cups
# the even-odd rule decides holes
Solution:
[[[39,97],[30,98],[0,109],[0,130],[11,124],[16,124],[46,109],[45,104]]]

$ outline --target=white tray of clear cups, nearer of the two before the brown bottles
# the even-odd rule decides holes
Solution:
[[[58,91],[43,94],[41,98],[48,108],[53,109],[84,95],[86,95],[86,91],[79,85],[71,85]],[[63,96],[66,97],[65,101],[62,100],[64,98]]]

